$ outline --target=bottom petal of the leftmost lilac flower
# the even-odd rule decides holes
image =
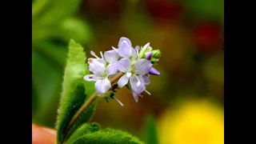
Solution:
[[[104,78],[95,82],[94,86],[98,94],[104,94],[107,90],[110,90],[111,83],[108,78]]]

